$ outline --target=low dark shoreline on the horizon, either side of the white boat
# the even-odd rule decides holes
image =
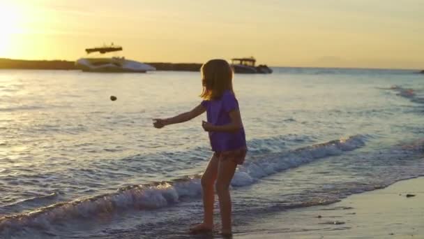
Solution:
[[[199,63],[146,62],[158,71],[200,71]],[[20,60],[0,58],[0,69],[29,70],[78,70],[75,61],[62,60]]]

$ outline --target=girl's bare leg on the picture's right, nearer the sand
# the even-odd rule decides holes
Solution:
[[[216,180],[216,192],[220,201],[222,234],[231,235],[231,197],[229,196],[229,184],[236,171],[237,164],[232,160],[220,161],[218,165],[218,178]]]

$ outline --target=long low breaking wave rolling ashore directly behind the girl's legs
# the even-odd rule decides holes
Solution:
[[[340,140],[301,147],[285,153],[266,154],[249,159],[236,171],[233,187],[247,186],[267,175],[288,168],[308,164],[316,159],[342,154],[365,145],[365,136],[351,136]],[[22,229],[24,226],[48,228],[53,222],[78,217],[93,217],[116,210],[137,208],[139,210],[162,208],[178,203],[183,198],[198,198],[202,187],[201,174],[190,175],[170,182],[132,185],[103,194],[75,201],[56,203],[28,213],[0,218],[0,232]]]

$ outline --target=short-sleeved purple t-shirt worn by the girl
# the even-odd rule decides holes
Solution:
[[[239,110],[239,102],[236,96],[229,90],[222,94],[221,99],[202,101],[202,106],[206,108],[208,122],[213,125],[225,125],[231,123],[229,112]],[[222,152],[228,150],[237,150],[246,147],[244,129],[234,133],[229,132],[209,132],[209,140],[211,140],[212,150]]]

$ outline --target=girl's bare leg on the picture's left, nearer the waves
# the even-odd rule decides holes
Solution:
[[[202,197],[204,219],[203,223],[190,228],[190,231],[211,231],[213,229],[213,203],[215,201],[215,192],[213,189],[216,177],[218,175],[218,157],[213,154],[209,161],[206,171],[202,175]]]

